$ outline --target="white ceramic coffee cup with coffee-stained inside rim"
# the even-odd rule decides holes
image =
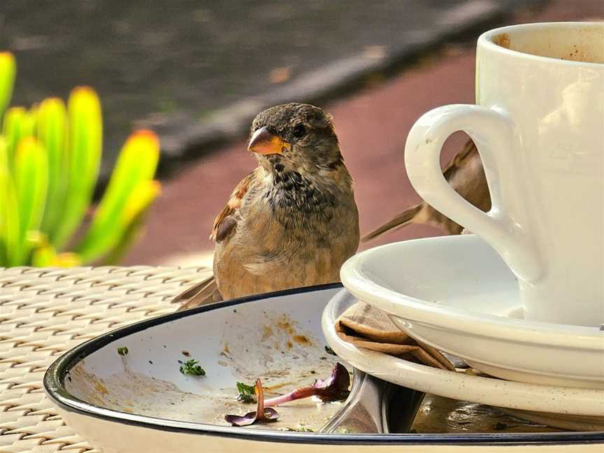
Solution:
[[[476,102],[417,120],[405,146],[413,187],[501,254],[519,280],[526,319],[604,323],[604,22],[482,34]],[[443,177],[440,150],[455,131],[482,157],[489,213]]]

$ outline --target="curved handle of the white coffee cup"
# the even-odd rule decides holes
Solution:
[[[472,138],[482,158],[491,193],[488,213],[457,194],[440,168],[443,143],[456,131]],[[526,227],[516,218],[524,202],[522,178],[515,170],[520,168],[513,153],[515,140],[514,123],[502,110],[469,104],[443,106],[425,113],[413,125],[405,145],[405,167],[411,184],[427,203],[482,236],[519,278],[533,282],[542,266]]]

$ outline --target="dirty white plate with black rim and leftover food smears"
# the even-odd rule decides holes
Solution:
[[[293,380],[297,385],[312,382],[310,371],[321,377],[322,368],[331,368],[336,358],[325,354],[321,314],[340,289],[327,285],[264,294],[132,324],[64,354],[48,369],[45,391],[67,424],[104,453],[398,453],[416,452],[418,445],[443,453],[503,453],[530,446],[537,453],[549,452],[552,445],[565,451],[583,451],[587,445],[594,452],[603,445],[602,433],[376,435],[224,426],[222,413],[231,410],[225,404],[234,403],[237,380],[272,375],[263,382]],[[280,332],[275,320],[282,321]],[[296,343],[296,335],[310,345]],[[117,354],[120,346],[128,347],[127,356]],[[177,360],[183,350],[199,359],[205,377],[180,374]],[[328,414],[322,411],[329,408],[314,406],[325,422]],[[236,404],[236,410],[241,406]],[[299,410],[282,406],[279,412],[298,420]]]

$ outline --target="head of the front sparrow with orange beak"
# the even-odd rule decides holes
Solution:
[[[316,171],[342,161],[331,116],[318,107],[287,103],[259,113],[248,150],[269,171]]]

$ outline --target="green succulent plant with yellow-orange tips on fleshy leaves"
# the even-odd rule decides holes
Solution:
[[[0,52],[0,266],[113,264],[159,194],[159,141],[134,131],[94,210],[103,124],[99,96],[77,87],[29,110],[8,108],[16,65]],[[82,227],[82,222],[86,227]]]

